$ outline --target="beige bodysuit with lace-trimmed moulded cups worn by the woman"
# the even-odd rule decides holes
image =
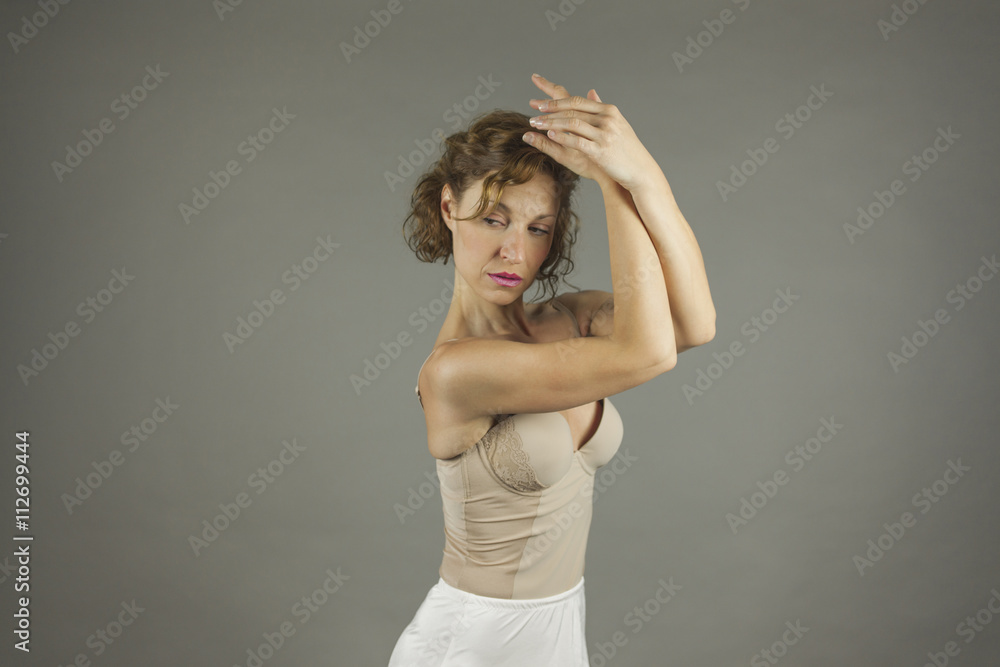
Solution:
[[[569,313],[580,336],[572,311],[552,303]],[[579,450],[558,412],[506,414],[496,415],[475,445],[437,460],[445,533],[439,573],[449,585],[486,597],[530,599],[580,581],[594,474],[615,456],[624,434],[611,401],[598,403],[600,424]]]

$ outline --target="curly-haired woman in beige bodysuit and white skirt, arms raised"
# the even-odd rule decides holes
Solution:
[[[389,667],[589,664],[591,494],[623,435],[607,397],[715,335],[697,242],[621,113],[596,91],[533,81],[557,100],[540,126],[555,131],[515,112],[475,119],[448,137],[404,223],[420,259],[454,254],[455,289],[416,386],[444,557]],[[525,305],[536,279],[554,291],[572,269],[580,176],[604,195],[614,292]]]

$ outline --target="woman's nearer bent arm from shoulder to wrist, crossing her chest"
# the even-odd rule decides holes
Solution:
[[[638,386],[677,361],[663,273],[628,191],[603,174],[614,329],[551,343],[464,339],[424,366],[430,392],[459,418],[556,412]]]

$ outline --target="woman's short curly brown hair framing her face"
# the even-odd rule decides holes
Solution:
[[[488,202],[499,202],[507,185],[527,183],[541,172],[552,177],[559,204],[552,230],[552,247],[536,276],[543,296],[558,293],[559,280],[573,271],[572,250],[580,219],[570,203],[580,176],[546,153],[525,143],[525,132],[535,128],[517,111],[496,109],[471,120],[469,129],[444,140],[444,152],[420,177],[410,198],[410,213],[403,221],[406,243],[422,262],[436,262],[452,253],[451,230],[441,216],[441,191],[447,184],[455,196],[464,197],[474,181],[485,177],[483,192],[471,220],[489,215]],[[495,208],[495,205],[494,205]],[[566,281],[567,284],[569,281]],[[536,287],[538,284],[536,283]]]

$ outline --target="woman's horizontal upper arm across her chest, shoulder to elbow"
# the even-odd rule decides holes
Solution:
[[[671,366],[624,354],[608,336],[550,343],[465,339],[428,360],[428,388],[465,418],[557,412],[647,382]]]

